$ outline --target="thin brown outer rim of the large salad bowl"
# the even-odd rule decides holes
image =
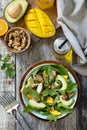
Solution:
[[[52,64],[62,64],[65,68],[68,69],[68,71],[72,74],[72,76],[74,77],[76,83],[78,84],[78,93],[77,93],[78,95],[77,95],[76,102],[75,102],[75,104],[74,104],[74,106],[73,106],[73,111],[74,111],[74,109],[75,109],[75,107],[76,107],[76,105],[77,105],[77,103],[78,103],[78,101],[79,101],[79,98],[80,98],[80,82],[79,82],[79,80],[78,80],[78,78],[77,78],[77,76],[76,76],[76,73],[73,71],[73,69],[72,69],[70,66],[68,66],[68,65],[66,65],[66,64],[64,64],[64,63],[62,63],[62,62],[60,62],[60,61],[56,61],[56,60],[41,60],[41,61],[38,61],[38,62],[36,62],[36,63],[33,63],[31,66],[29,66],[29,67],[25,70],[24,74],[22,75],[22,77],[21,77],[21,79],[20,79],[20,83],[19,83],[19,98],[20,98],[20,101],[21,101],[23,107],[25,108],[26,105],[24,104],[24,101],[23,101],[23,98],[22,98],[22,93],[20,92],[20,90],[21,90],[21,88],[22,88],[22,84],[23,84],[23,82],[24,82],[25,77],[27,76],[27,74],[28,74],[34,67],[37,67],[38,65],[41,65],[41,64],[50,64],[50,63],[52,63]],[[72,112],[71,112],[71,113],[72,113]],[[70,115],[71,113],[66,114],[66,115],[64,115],[63,117],[60,117],[60,118],[57,119],[57,120],[61,120],[61,119],[65,118],[65,117],[67,117],[68,115]],[[37,117],[37,116],[34,115],[32,112],[28,112],[28,114],[31,114],[31,115],[33,115],[35,118],[38,118],[38,119],[40,119],[40,120],[49,121],[49,120],[47,120],[47,119],[42,119],[42,118],[40,118],[40,117]]]

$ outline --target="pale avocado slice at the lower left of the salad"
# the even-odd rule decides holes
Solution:
[[[29,104],[36,109],[42,109],[42,108],[46,107],[46,105],[44,103],[42,103],[42,102],[38,103],[38,102],[34,101],[33,99],[29,100]]]

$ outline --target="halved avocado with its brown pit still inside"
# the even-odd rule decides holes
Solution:
[[[4,16],[9,23],[19,21],[28,7],[26,0],[12,0],[4,9]]]

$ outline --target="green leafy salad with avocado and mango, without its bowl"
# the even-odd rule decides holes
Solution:
[[[25,80],[21,93],[29,100],[24,112],[37,111],[56,121],[73,111],[78,84],[62,64],[36,67]]]

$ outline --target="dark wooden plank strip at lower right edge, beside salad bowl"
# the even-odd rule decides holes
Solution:
[[[87,129],[87,77],[79,76],[81,83],[80,99],[77,107],[77,130]]]

